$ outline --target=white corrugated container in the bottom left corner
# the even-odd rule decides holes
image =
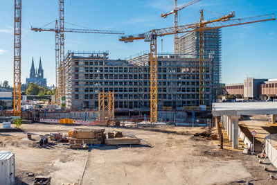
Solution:
[[[0,152],[0,184],[15,183],[15,154],[9,151]]]

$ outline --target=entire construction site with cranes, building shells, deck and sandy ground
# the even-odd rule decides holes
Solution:
[[[55,96],[27,109],[22,2],[15,0],[14,89],[7,91],[13,108],[0,110],[0,185],[277,184],[277,103],[217,100],[222,28],[275,15],[236,18],[231,11],[206,20],[200,9],[194,23],[180,26],[178,12],[199,1],[174,0],[161,14],[173,15],[172,27],[125,35],[64,28],[59,0],[55,28],[31,27],[55,35]],[[120,35],[118,42],[143,40],[150,50],[116,60],[109,51],[66,51],[65,33]],[[174,36],[174,52],[159,53],[158,38],[167,35]]]

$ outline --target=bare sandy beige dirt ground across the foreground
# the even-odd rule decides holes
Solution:
[[[25,133],[0,133],[0,150],[15,153],[16,176],[26,184],[34,178],[28,173],[50,175],[51,184],[277,184],[256,156],[219,150],[218,141],[193,136],[206,127],[106,127],[106,132],[121,130],[142,139],[141,146],[71,150],[68,144],[53,141],[38,146],[39,134],[73,128],[22,125]],[[26,139],[26,133],[32,133],[33,140]]]

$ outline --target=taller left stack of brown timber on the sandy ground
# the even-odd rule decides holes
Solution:
[[[70,148],[83,148],[87,145],[102,144],[105,139],[105,127],[93,129],[75,129],[69,138]]]

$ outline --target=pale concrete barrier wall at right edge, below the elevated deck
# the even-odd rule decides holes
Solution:
[[[277,168],[277,149],[272,146],[272,143],[277,143],[277,134],[270,134],[265,137],[265,153],[269,161]]]

